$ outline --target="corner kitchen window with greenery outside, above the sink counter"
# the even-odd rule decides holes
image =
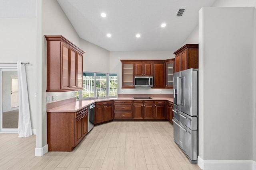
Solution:
[[[83,90],[77,99],[117,97],[118,74],[84,72]]]

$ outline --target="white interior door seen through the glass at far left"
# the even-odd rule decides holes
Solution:
[[[11,76],[11,108],[19,106],[18,76]]]

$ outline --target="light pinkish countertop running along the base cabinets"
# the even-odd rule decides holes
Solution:
[[[94,99],[94,100],[77,100],[76,102],[71,102],[69,104],[64,104],[59,107],[48,109],[47,112],[76,112],[91,104],[94,104],[95,102],[111,101],[111,100],[167,100],[167,101],[173,102],[173,98],[161,98],[161,97],[152,97],[152,99],[134,99],[129,97],[102,98],[102,99]]]

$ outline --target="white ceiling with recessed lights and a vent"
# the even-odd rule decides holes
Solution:
[[[176,51],[198,25],[200,8],[215,0],[57,1],[82,39],[108,51]],[[185,11],[177,17],[180,8]]]

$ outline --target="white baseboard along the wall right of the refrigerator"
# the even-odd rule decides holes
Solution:
[[[256,170],[253,160],[203,160],[198,156],[197,164],[203,170]]]

